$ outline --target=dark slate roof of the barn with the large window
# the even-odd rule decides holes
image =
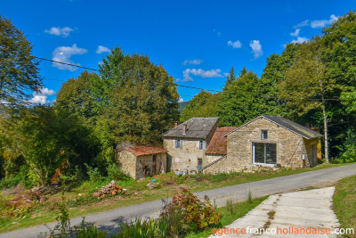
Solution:
[[[290,131],[294,132],[295,134],[303,136],[306,139],[312,139],[312,138],[318,138],[318,137],[324,136],[324,135],[319,134],[318,132],[313,131],[312,129],[310,129],[308,127],[303,127],[302,125],[299,125],[298,123],[295,123],[294,121],[291,121],[290,119],[285,119],[285,118],[278,117],[278,116],[269,116],[269,115],[259,116],[258,118],[255,118],[255,119],[247,122],[246,124],[242,125],[241,127],[244,127],[248,123],[251,123],[251,122],[255,121],[256,119],[260,119],[260,118],[268,119],[271,122],[276,123],[281,127],[285,127],[287,130],[290,130]],[[239,128],[236,128],[233,131],[236,131]],[[226,135],[229,135],[231,133],[232,133],[232,131]],[[226,135],[224,135],[224,136],[226,136]]]

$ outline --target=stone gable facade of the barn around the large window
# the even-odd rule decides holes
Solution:
[[[267,138],[262,139],[262,131]],[[256,166],[308,168],[317,165],[317,144],[320,138],[306,139],[281,127],[271,120],[259,117],[230,135],[227,135],[227,158],[216,162],[205,173],[241,171]],[[276,144],[276,163],[255,163],[254,144]]]

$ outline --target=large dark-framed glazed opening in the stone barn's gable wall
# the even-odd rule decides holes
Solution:
[[[254,163],[257,164],[276,164],[277,145],[276,144],[254,144]]]

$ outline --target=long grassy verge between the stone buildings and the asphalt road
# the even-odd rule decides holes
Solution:
[[[218,174],[214,176],[203,175],[199,180],[196,176],[177,177],[173,173],[154,176],[153,178],[161,185],[159,189],[150,190],[146,186],[152,178],[146,178],[142,182],[129,181],[118,183],[125,187],[129,194],[119,196],[108,196],[105,199],[93,198],[92,193],[98,191],[101,185],[108,181],[99,181],[97,183],[84,182],[66,193],[66,200],[69,202],[69,216],[80,217],[88,214],[101,212],[109,209],[117,209],[147,201],[166,199],[172,197],[175,192],[180,190],[181,186],[186,187],[191,192],[205,191],[214,188],[220,188],[229,185],[239,185],[255,182],[263,179],[269,179],[278,176],[289,176],[308,171],[314,171],[324,168],[334,168],[343,166],[340,164],[320,165],[314,168],[301,169],[279,169],[262,170],[255,173],[231,173]],[[2,194],[0,194],[1,198]],[[50,199],[60,199],[60,194],[50,196]],[[12,197],[3,196],[0,199],[0,210],[7,206],[7,201]],[[9,209],[12,211],[12,209]],[[55,221],[58,215],[58,201],[46,202],[44,204],[35,204],[30,210],[20,210],[16,215],[6,214],[7,211],[0,211],[0,233],[9,232],[15,229],[36,226]]]

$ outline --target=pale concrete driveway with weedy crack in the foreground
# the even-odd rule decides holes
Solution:
[[[239,237],[334,237],[332,233],[339,227],[331,209],[334,191],[332,186],[271,195],[245,217],[226,226],[227,230],[217,230],[210,238],[237,234]]]

